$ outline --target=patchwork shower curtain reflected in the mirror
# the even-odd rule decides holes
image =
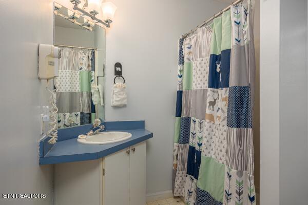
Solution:
[[[94,52],[63,48],[55,78],[58,128],[91,123]],[[92,62],[93,61],[93,62]]]

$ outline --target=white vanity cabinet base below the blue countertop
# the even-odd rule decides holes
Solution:
[[[54,204],[144,205],[146,142],[106,157],[54,166]]]

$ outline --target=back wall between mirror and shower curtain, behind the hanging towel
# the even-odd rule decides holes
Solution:
[[[114,21],[106,30],[106,119],[145,119],[147,194],[171,190],[177,90],[178,38],[227,6],[203,0],[112,0]],[[114,64],[120,62],[128,105],[110,107]]]

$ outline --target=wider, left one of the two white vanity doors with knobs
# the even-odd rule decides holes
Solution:
[[[129,205],[128,151],[127,148],[104,157],[103,205]]]

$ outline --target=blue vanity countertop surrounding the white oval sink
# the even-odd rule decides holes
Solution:
[[[129,121],[129,122],[131,123],[132,121]],[[77,141],[78,135],[70,139],[65,139],[65,140],[60,139],[56,142],[55,145],[53,145],[46,152],[46,154],[42,154],[43,156],[41,155],[40,165],[99,159],[109,154],[112,154],[120,150],[123,150],[125,148],[128,148],[130,146],[136,145],[139,142],[142,142],[144,140],[147,140],[153,137],[152,132],[149,132],[144,129],[144,121],[143,121],[143,126],[131,126],[133,129],[127,129],[129,126],[119,126],[119,129],[117,129],[117,126],[114,126],[114,122],[112,126],[111,125],[109,126],[110,129],[108,129],[108,123],[109,122],[106,122],[105,124],[106,131],[117,130],[117,131],[122,131],[122,132],[129,132],[132,134],[132,137],[124,141],[115,142],[111,144],[105,144],[105,145],[80,144]],[[123,122],[119,122],[119,123],[123,124]],[[126,129],[123,129],[123,128],[126,128]],[[67,129],[66,133],[67,131],[69,130]],[[79,134],[83,134],[83,133],[79,133]],[[47,139],[42,139],[42,144],[40,143],[40,146],[43,146],[44,145],[43,142],[46,140]],[[44,148],[40,148],[40,150],[41,149],[44,150]]]

